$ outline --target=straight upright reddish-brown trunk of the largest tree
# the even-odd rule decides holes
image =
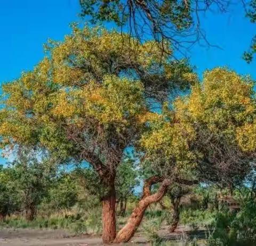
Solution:
[[[116,236],[116,192],[114,180],[109,185],[109,193],[102,198],[102,242],[111,243]]]

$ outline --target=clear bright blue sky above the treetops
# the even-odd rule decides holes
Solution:
[[[21,71],[33,69],[43,58],[47,38],[63,39],[70,33],[69,23],[79,21],[78,0],[2,0],[0,3],[0,81],[10,81]],[[195,45],[191,63],[202,75],[205,69],[227,65],[256,79],[256,62],[246,64],[243,51],[256,34],[256,25],[244,17],[240,5],[231,6],[226,15],[208,13],[202,21],[207,39],[222,50]],[[255,60],[255,59],[254,59]],[[3,160],[2,160],[3,161]],[[1,162],[1,161],[0,161]]]

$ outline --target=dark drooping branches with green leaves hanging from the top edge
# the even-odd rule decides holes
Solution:
[[[82,7],[82,16],[89,17],[92,23],[98,21],[111,21],[136,36],[143,42],[148,36],[159,43],[159,48],[169,42],[174,50],[183,53],[196,42],[202,41],[211,45],[206,38],[201,22],[205,12],[229,12],[230,6],[241,4],[245,15],[252,23],[256,20],[255,0],[235,2],[225,1],[187,1],[187,0],[79,0]],[[203,12],[203,13],[202,13]],[[255,38],[244,59],[249,63],[255,53]]]

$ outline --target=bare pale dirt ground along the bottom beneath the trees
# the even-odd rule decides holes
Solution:
[[[173,245],[179,245],[177,239],[184,233],[188,233],[186,227],[179,227],[177,232],[168,234],[166,228],[159,231],[165,240],[170,240]],[[195,235],[190,235],[195,237]],[[202,238],[203,232],[196,234]],[[150,245],[147,240],[139,233],[135,234],[130,243],[122,245]],[[89,246],[102,245],[101,238],[98,236],[81,235],[74,236],[67,231],[48,230],[48,229],[0,229],[0,246]]]

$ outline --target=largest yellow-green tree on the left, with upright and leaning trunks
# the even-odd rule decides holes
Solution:
[[[146,181],[142,201],[116,234],[115,178],[124,150],[155,117],[150,109],[156,102],[194,82],[187,62],[156,47],[115,31],[74,26],[63,42],[47,45],[48,55],[33,71],[3,86],[2,147],[32,146],[59,163],[90,163],[104,187],[104,243],[130,240],[146,208],[167,188],[165,182],[161,194],[151,195],[156,179]]]

